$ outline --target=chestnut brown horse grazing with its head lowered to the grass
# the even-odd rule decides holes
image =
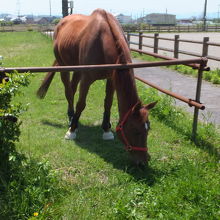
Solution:
[[[69,15],[63,18],[54,32],[54,66],[116,64],[131,63],[130,50],[124,33],[117,20],[102,9],[95,10],[90,16]],[[54,77],[49,72],[37,94],[43,98]],[[110,109],[114,90],[116,90],[119,109],[119,125],[116,131],[126,149],[131,153],[136,164],[146,163],[147,134],[149,130],[149,110],[156,103],[142,105],[135,85],[132,69],[117,71],[79,71],[74,72],[70,81],[70,73],[62,72],[61,79],[65,87],[68,101],[70,127],[66,139],[76,137],[76,129],[82,111],[86,106],[86,96],[90,85],[99,79],[107,79],[106,97],[102,128],[103,139],[114,139],[110,131]],[[80,83],[79,100],[74,111],[74,94]]]

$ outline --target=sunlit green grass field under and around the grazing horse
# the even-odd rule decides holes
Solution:
[[[5,67],[50,66],[54,59],[52,42],[35,32],[0,33],[0,55]],[[23,90],[25,95],[16,100],[28,105],[20,117],[21,136],[16,145],[28,158],[47,161],[58,173],[62,190],[35,210],[37,217],[26,212],[24,219],[220,218],[220,135],[211,125],[199,130],[200,142],[193,144],[187,136],[192,119],[166,108],[170,99],[159,98],[138,84],[143,102],[160,99],[160,104],[150,118],[149,167],[134,168],[117,138],[101,139],[104,81],[90,89],[77,139],[66,141],[67,104],[59,74],[46,98],[39,100],[35,92],[43,78],[43,73],[35,74]],[[115,99],[113,128],[117,121]],[[38,178],[38,171],[33,175]]]

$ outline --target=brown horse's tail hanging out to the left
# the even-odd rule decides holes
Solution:
[[[53,63],[53,66],[57,66],[58,63],[55,60]],[[48,72],[47,75],[45,76],[43,82],[41,83],[40,88],[37,90],[37,97],[40,99],[43,99],[46,96],[47,90],[50,87],[50,83],[53,80],[53,77],[55,75],[55,72]]]

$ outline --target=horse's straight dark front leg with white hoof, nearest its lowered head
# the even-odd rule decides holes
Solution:
[[[111,115],[111,107],[114,96],[114,86],[111,79],[107,79],[105,93],[106,95],[104,101],[104,114],[102,121],[102,129],[104,130],[104,133],[102,138],[103,140],[113,140],[114,135],[110,130],[111,129],[110,115]]]

